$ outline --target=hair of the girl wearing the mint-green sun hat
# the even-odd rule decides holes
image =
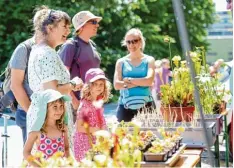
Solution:
[[[64,115],[65,115],[65,102],[62,98],[58,99],[58,100],[55,100],[53,102],[50,102],[47,104],[47,113],[46,113],[46,118],[45,118],[45,122],[43,124],[43,126],[41,127],[41,132],[44,132],[44,133],[47,133],[46,132],[46,123],[47,123],[47,116],[48,116],[48,108],[50,106],[52,106],[54,103],[61,103],[63,104],[63,107],[64,107],[64,112],[62,114],[62,116],[60,117],[60,119],[56,120],[56,127],[58,128],[58,130],[64,132],[65,131],[65,122],[64,122]]]

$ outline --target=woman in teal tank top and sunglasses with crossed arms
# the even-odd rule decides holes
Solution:
[[[154,81],[154,58],[143,53],[145,39],[139,29],[130,29],[122,41],[129,54],[116,62],[114,88],[120,90],[118,121],[131,121],[143,107],[155,107],[150,87]]]

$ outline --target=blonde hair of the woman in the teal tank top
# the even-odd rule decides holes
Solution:
[[[122,46],[127,46],[126,38],[129,35],[137,36],[137,37],[140,38],[140,41],[141,41],[141,50],[144,51],[144,49],[145,49],[145,38],[144,38],[143,33],[141,32],[141,30],[138,29],[138,28],[132,28],[129,31],[127,31],[127,33],[124,36],[124,39],[121,42]]]

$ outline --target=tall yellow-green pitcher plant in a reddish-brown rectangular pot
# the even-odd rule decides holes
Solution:
[[[194,87],[186,61],[174,56],[173,80],[161,85],[161,112],[166,121],[191,121],[193,118]]]

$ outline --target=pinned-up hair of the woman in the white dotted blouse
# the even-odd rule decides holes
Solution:
[[[66,25],[71,24],[71,18],[66,12],[60,10],[50,9],[48,6],[37,7],[33,17],[34,31],[40,31],[43,35],[47,35],[46,27],[48,25],[57,26],[62,20],[65,21]]]

